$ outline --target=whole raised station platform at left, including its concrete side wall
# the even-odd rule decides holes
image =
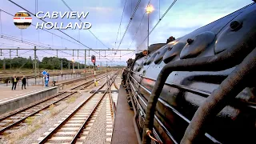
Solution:
[[[21,86],[17,86],[16,90],[11,90],[11,86],[2,86],[0,91],[0,114],[5,114],[32,102],[37,102],[42,98],[57,94],[58,86],[27,86],[23,90]]]

